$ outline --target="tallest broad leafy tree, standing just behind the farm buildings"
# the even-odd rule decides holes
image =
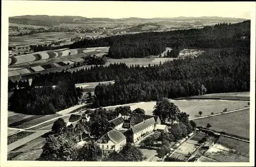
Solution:
[[[170,121],[172,125],[176,121],[179,113],[180,110],[178,106],[170,102],[167,98],[162,98],[157,101],[153,111],[153,114],[159,116],[162,123],[165,123],[167,120]]]

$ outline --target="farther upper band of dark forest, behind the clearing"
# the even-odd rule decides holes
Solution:
[[[242,36],[250,37],[250,20],[228,24],[220,23],[203,29],[176,30],[168,32],[146,32],[126,34],[99,39],[84,39],[61,47],[34,47],[34,51],[71,49],[82,47],[110,46],[111,58],[142,58],[158,55],[166,46],[197,49],[236,47]],[[248,40],[247,40],[248,42]]]

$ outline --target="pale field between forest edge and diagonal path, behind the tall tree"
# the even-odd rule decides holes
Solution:
[[[181,112],[189,114],[189,118],[199,116],[198,112],[202,111],[202,116],[210,115],[211,112],[222,112],[224,108],[228,111],[245,108],[247,102],[245,101],[222,101],[222,100],[170,100],[177,105]],[[132,105],[131,109],[142,108],[146,114],[152,115],[156,102],[145,102]]]

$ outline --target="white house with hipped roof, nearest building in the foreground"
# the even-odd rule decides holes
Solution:
[[[96,143],[104,152],[119,151],[126,144],[126,137],[119,131],[113,129],[101,136]]]

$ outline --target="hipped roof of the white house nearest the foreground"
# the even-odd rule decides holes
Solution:
[[[114,144],[118,145],[121,141],[123,141],[126,137],[119,131],[113,129],[109,131],[108,133],[101,136],[99,139],[110,139],[114,142]],[[96,141],[97,142],[97,141]]]

